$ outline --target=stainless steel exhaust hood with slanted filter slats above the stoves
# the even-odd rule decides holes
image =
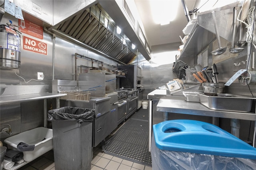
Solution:
[[[113,0],[113,2],[115,1]],[[100,1],[99,3],[103,3],[104,7],[109,9],[113,2],[111,0],[107,2]],[[86,9],[83,8],[48,30],[72,42],[82,43],[87,48],[112,58],[121,64],[129,64],[134,61],[137,55],[136,49],[145,59],[149,60],[148,52],[142,43],[138,41],[138,36],[132,30],[128,21],[124,18],[120,22],[116,18],[121,15],[119,7],[114,13],[111,12],[114,15],[114,20],[119,21],[119,23],[116,23],[99,3],[95,2],[92,6]],[[124,24],[126,24],[126,28],[122,30],[120,35],[117,34],[116,25]],[[127,31],[128,29],[129,32]],[[136,49],[132,49],[132,43],[136,44]]]

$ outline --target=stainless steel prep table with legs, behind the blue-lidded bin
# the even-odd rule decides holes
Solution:
[[[198,88],[196,86],[192,89]],[[212,117],[212,124],[218,125],[218,118],[231,119],[231,134],[239,138],[240,119],[256,121],[254,112],[234,112],[212,110],[202,105],[200,102],[187,102],[182,96],[182,92],[168,94],[166,90],[156,89],[148,94],[149,100],[149,150],[151,150],[152,125],[160,121],[167,121],[169,113],[180,113],[187,115],[199,115]]]

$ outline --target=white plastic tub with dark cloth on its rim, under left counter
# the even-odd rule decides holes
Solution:
[[[26,143],[27,145],[35,145],[34,150],[23,152],[23,159],[26,162],[30,162],[53,149],[52,129],[37,127],[12,137],[8,137],[4,142],[8,145],[8,149],[12,150],[17,150],[17,145],[20,142]]]

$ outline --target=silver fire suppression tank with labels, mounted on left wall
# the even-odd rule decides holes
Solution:
[[[0,66],[20,68],[21,34],[8,25],[0,25]]]

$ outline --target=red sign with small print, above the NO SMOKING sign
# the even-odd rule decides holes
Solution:
[[[43,39],[43,27],[28,20],[19,20],[19,31]]]

